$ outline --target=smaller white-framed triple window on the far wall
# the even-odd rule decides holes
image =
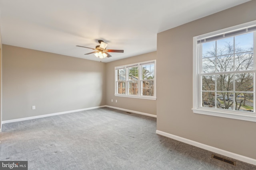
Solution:
[[[115,96],[156,100],[156,60],[115,67]]]

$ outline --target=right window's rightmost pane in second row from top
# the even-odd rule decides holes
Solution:
[[[253,52],[236,54],[235,69],[236,70],[252,70],[253,69]]]

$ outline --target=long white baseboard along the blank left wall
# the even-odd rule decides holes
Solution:
[[[50,113],[50,114],[46,114],[46,115],[39,115],[39,116],[32,116],[32,117],[24,117],[24,118],[20,118],[20,119],[6,120],[6,121],[2,121],[2,124],[17,122],[17,121],[30,120],[30,119],[37,119],[37,118],[42,118],[42,117],[55,116],[55,115],[62,115],[62,114],[73,113],[73,112],[77,112],[77,111],[98,109],[98,108],[101,108],[101,107],[106,107],[106,106],[89,107],[89,108],[85,108],[85,109],[77,109],[77,110],[63,111],[63,112],[58,112],[58,113]]]

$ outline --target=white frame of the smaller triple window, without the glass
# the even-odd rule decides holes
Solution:
[[[142,95],[142,65],[154,63],[154,96],[143,96]],[[129,71],[128,68],[132,66],[138,66],[138,94],[129,94],[128,83],[129,83]],[[125,94],[118,94],[117,93],[117,69],[125,68],[126,69],[126,80],[125,80]],[[140,99],[148,99],[148,100],[156,100],[156,60],[145,61],[140,63],[134,64],[127,64],[123,66],[116,66],[115,67],[115,96],[118,97],[127,97],[127,98],[140,98]]]

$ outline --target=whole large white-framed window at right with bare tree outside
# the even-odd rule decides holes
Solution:
[[[256,121],[256,22],[194,37],[194,113]]]

